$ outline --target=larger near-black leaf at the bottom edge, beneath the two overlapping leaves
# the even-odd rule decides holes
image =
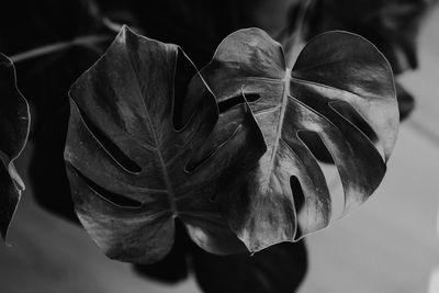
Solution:
[[[194,248],[192,261],[205,293],[292,293],[307,270],[304,241],[278,244],[254,256],[215,256]]]

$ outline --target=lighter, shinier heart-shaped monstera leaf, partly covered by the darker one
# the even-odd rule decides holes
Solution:
[[[259,29],[241,30],[222,42],[201,74],[219,106],[243,92],[254,97],[249,105],[267,153],[241,187],[221,199],[230,227],[250,251],[328,225],[331,199],[309,134],[323,142],[337,166],[344,215],[382,181],[398,126],[395,86],[386,59],[361,36],[322,34],[289,69],[280,44]],[[383,156],[350,122],[351,114],[369,125]],[[296,233],[297,223],[303,235]]]

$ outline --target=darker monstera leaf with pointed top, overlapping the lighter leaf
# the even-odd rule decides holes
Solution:
[[[188,67],[198,72],[178,46],[124,26],[71,87],[65,159],[72,199],[110,258],[161,259],[176,217],[210,252],[245,250],[214,199],[257,164],[263,138],[245,103],[218,116]]]

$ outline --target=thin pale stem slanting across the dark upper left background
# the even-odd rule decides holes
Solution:
[[[93,46],[94,44],[109,41],[112,36],[110,35],[83,35],[78,36],[74,40],[59,42],[54,44],[44,45],[42,47],[36,47],[23,53],[19,53],[10,57],[10,59],[16,64],[40,56],[48,55],[52,53],[68,49],[74,46]]]

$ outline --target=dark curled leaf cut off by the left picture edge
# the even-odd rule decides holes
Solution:
[[[16,88],[12,61],[0,54],[0,233],[7,237],[24,183],[14,167],[29,134],[27,102]]]

